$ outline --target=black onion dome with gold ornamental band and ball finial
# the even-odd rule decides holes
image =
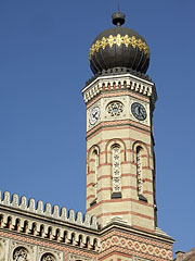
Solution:
[[[113,14],[116,27],[101,33],[93,41],[90,53],[90,67],[94,74],[109,69],[130,69],[145,74],[150,65],[150,48],[145,39],[135,30],[121,27],[125,14]]]

